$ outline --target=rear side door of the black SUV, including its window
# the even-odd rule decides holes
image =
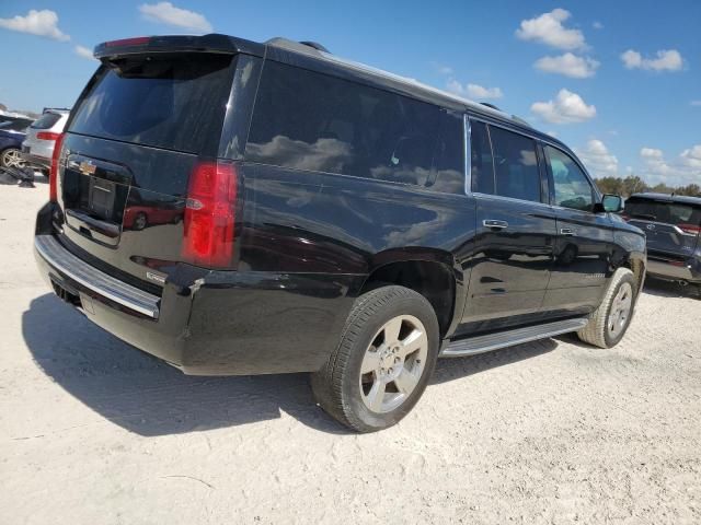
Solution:
[[[540,310],[556,230],[536,141],[476,120],[470,130],[478,235],[463,323],[491,329]]]

